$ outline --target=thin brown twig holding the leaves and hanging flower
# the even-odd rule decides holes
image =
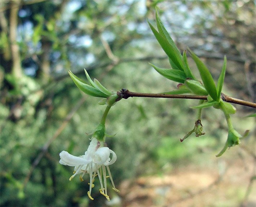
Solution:
[[[116,93],[119,95],[119,99],[116,101],[119,101],[120,99],[128,99],[129,97],[147,97],[147,98],[178,98],[178,99],[200,99],[200,100],[207,100],[207,96],[199,96],[199,95],[171,95],[171,94],[151,94],[151,93],[136,93],[131,92],[128,89],[122,89]],[[256,103],[232,98],[230,96],[227,96],[225,94],[221,94],[221,99],[225,102],[244,105],[247,107],[256,108]]]

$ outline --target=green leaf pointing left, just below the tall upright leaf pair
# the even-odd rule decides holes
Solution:
[[[179,82],[184,84],[184,81],[186,79],[186,75],[183,71],[175,70],[175,69],[165,69],[165,68],[159,68],[154,66],[153,64],[149,63],[155,70],[160,73],[165,78],[168,78],[169,80]]]

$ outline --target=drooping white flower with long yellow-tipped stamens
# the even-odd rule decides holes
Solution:
[[[110,154],[112,154],[112,159],[110,159]],[[93,198],[91,197],[91,191],[94,187],[93,182],[96,175],[98,175],[100,179],[100,193],[104,195],[108,201],[110,201],[110,199],[109,195],[107,195],[107,177],[110,178],[113,189],[116,192],[120,192],[118,189],[115,188],[114,181],[112,179],[109,169],[109,165],[113,164],[116,161],[116,154],[108,147],[104,147],[104,142],[100,142],[95,137],[93,137],[84,155],[76,157],[66,151],[62,151],[61,153],[59,153],[59,156],[61,157],[59,163],[61,163],[62,165],[75,166],[74,175],[72,175],[69,180],[72,180],[75,175],[83,173],[82,175],[80,175],[80,180],[83,181],[84,174],[89,174],[90,183],[88,184],[90,185],[90,190],[87,194],[92,200]],[[105,167],[107,168],[109,176],[106,176]],[[102,175],[104,183],[102,182]]]

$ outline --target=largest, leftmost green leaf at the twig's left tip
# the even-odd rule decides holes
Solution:
[[[94,87],[88,84],[85,84],[84,82],[81,82],[80,81],[81,79],[76,77],[71,71],[69,71],[69,75],[72,78],[72,80],[75,82],[76,86],[84,93],[90,96],[95,96],[95,97],[102,97],[102,98],[108,97],[108,95],[102,93],[100,90],[95,89]]]

